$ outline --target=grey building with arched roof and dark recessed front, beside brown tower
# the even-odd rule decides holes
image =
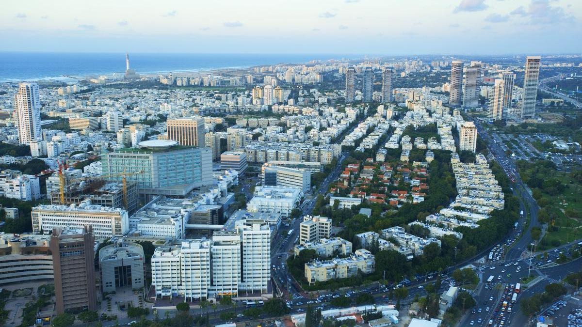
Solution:
[[[140,244],[120,242],[99,250],[101,292],[115,292],[118,287],[142,290],[145,282],[144,250]]]

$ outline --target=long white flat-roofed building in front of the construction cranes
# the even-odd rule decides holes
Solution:
[[[83,201],[79,205],[39,205],[31,213],[33,232],[47,234],[53,228],[82,228],[93,226],[95,239],[122,236],[129,230],[127,211],[119,208],[92,205]]]

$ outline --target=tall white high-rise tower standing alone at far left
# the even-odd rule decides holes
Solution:
[[[20,83],[14,97],[20,144],[30,144],[42,138],[40,126],[40,95],[37,83]]]

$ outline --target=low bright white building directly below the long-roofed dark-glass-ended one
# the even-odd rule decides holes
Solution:
[[[302,197],[303,191],[293,187],[257,186],[253,198],[247,202],[247,210],[253,213],[273,212],[288,217]]]

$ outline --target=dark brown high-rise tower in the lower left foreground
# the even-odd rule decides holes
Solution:
[[[93,228],[55,228],[51,235],[56,313],[97,310]]]

